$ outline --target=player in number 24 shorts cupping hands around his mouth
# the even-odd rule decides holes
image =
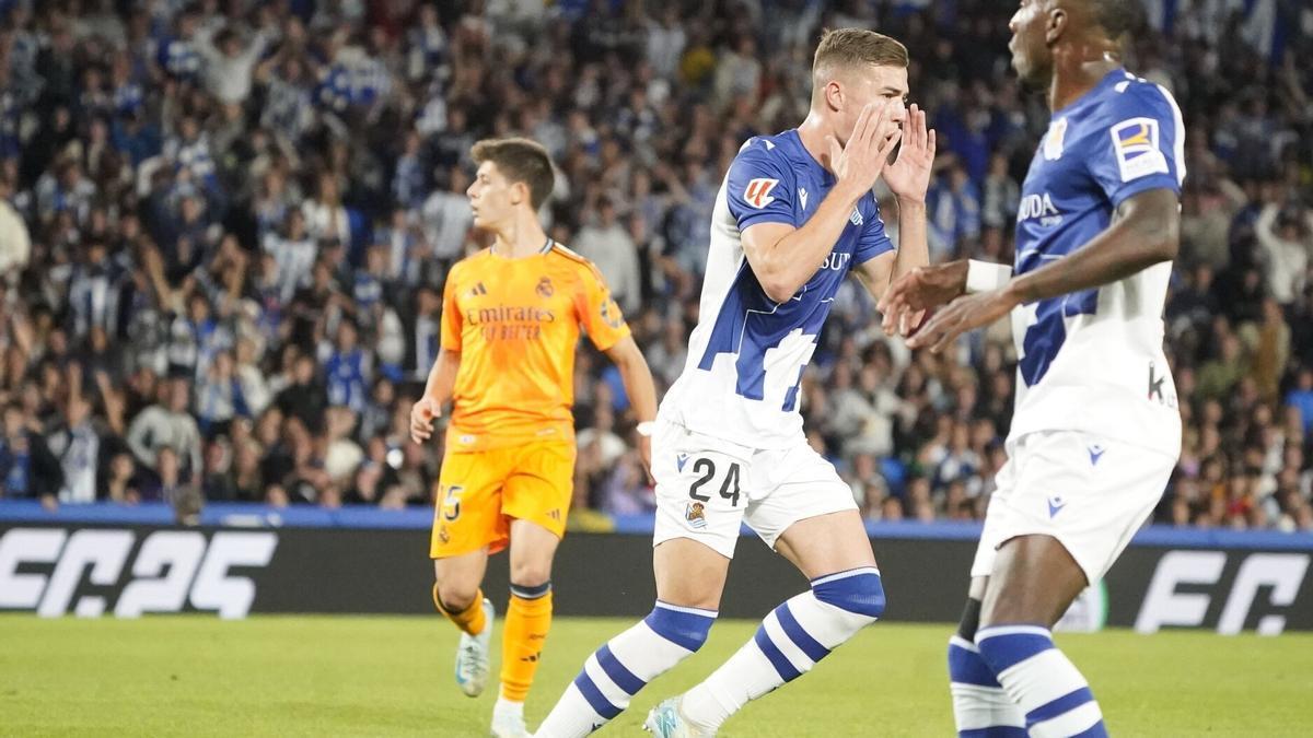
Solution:
[[[748,139],[716,201],[699,324],[653,435],[655,607],[588,658],[540,737],[591,733],[705,642],[742,523],[811,586],[705,682],[654,709],[646,727],[656,735],[714,735],[884,612],[852,490],[807,445],[798,389],[850,274],[878,298],[926,264],[935,137],[905,106],[907,50],[889,37],[829,32],[813,85],[802,125]],[[897,250],[871,192],[877,179],[898,197]]]

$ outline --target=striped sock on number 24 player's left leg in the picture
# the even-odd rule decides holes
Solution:
[[[642,622],[588,657],[534,735],[579,738],[601,727],[649,682],[702,647],[714,621],[714,611],[658,601]]]

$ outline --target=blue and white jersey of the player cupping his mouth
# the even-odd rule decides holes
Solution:
[[[798,386],[835,292],[857,264],[892,251],[867,193],[822,267],[790,299],[771,301],[743,255],[755,223],[801,227],[834,186],[796,130],[748,139],[721,185],[688,362],[662,415],[739,445],[785,448],[802,435]]]

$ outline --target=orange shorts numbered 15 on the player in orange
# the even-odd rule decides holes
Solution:
[[[574,496],[575,445],[532,443],[492,450],[448,452],[437,481],[431,558],[506,548],[511,520],[529,520],[565,536]]]

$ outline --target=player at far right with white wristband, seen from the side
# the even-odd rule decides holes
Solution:
[[[1048,92],[1053,118],[1022,188],[1016,264],[919,269],[882,305],[893,332],[952,301],[909,340],[932,351],[1011,314],[1020,357],[1008,461],[948,651],[961,738],[1108,734],[1050,628],[1153,512],[1180,453],[1162,310],[1184,125],[1166,89],[1121,67],[1137,11],[1022,0],[1012,67]]]

